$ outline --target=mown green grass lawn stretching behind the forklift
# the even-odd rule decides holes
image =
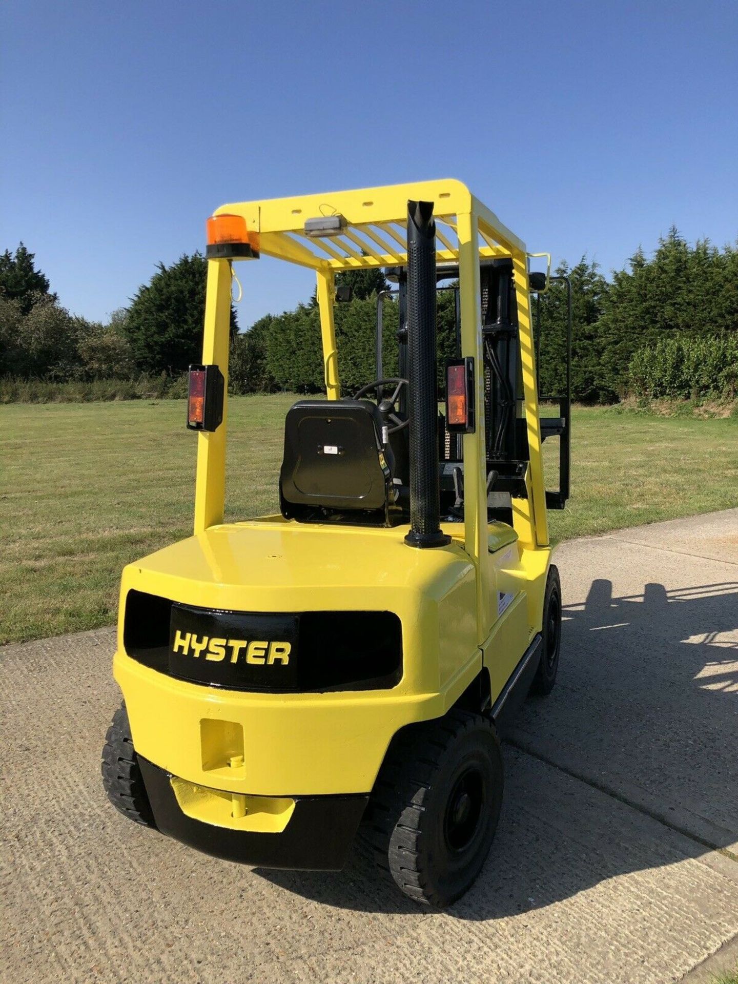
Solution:
[[[292,400],[230,400],[227,519],[277,509]],[[190,533],[184,412],[180,400],[0,408],[0,643],[111,624],[124,564]],[[569,508],[550,515],[556,541],[738,506],[738,424],[577,409],[572,482]]]

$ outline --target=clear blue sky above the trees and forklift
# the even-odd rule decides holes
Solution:
[[[0,249],[105,319],[218,205],[459,177],[605,272],[738,236],[738,4],[5,0]],[[241,327],[309,272],[241,268]]]

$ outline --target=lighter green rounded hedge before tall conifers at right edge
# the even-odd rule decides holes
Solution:
[[[640,348],[630,362],[630,392],[646,400],[732,400],[738,383],[738,334],[679,334]]]

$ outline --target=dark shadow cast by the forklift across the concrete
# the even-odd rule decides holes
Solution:
[[[557,687],[507,736],[500,828],[456,917],[518,914],[738,840],[738,583],[614,597],[595,580],[564,617]],[[418,911],[361,846],[338,874],[259,874],[339,908]]]

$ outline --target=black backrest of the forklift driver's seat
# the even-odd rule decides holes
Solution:
[[[382,450],[381,418],[369,400],[298,400],[284,421],[279,474],[282,515],[318,518],[322,510],[387,510],[392,471]]]

